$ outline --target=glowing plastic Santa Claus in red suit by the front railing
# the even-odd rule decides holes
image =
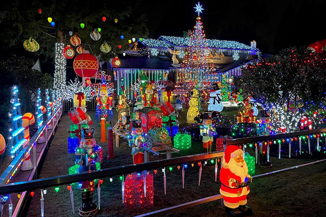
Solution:
[[[220,172],[220,193],[223,195],[225,211],[232,217],[252,215],[251,208],[246,206],[248,184],[252,177],[248,175],[243,156],[244,152],[237,145],[228,145]]]

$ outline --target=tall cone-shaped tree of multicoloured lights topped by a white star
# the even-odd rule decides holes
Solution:
[[[198,3],[195,7],[198,12],[196,26],[190,36],[189,48],[186,52],[185,60],[182,63],[183,68],[187,68],[186,80],[195,82],[205,79],[205,75],[214,71],[214,65],[209,63],[209,48],[207,39],[205,38],[203,23],[201,17],[202,5]]]

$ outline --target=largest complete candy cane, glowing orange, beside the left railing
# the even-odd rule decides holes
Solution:
[[[35,123],[35,117],[32,113],[25,113],[22,117],[22,127],[24,127],[24,138],[27,140],[27,142],[23,145],[27,145],[30,141],[30,125],[33,125]],[[33,163],[31,161],[31,153],[27,152],[24,155],[24,161],[22,163],[21,167],[22,171],[28,171],[33,170]]]

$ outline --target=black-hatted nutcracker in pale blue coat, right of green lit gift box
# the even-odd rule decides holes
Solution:
[[[203,125],[200,126],[201,135],[203,137],[203,148],[205,152],[211,152],[213,145],[213,135],[215,132],[215,129],[212,126],[212,113],[204,112],[203,115]]]

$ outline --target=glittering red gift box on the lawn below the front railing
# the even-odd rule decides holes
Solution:
[[[153,208],[153,174],[132,173],[124,181],[124,206],[131,209]]]

